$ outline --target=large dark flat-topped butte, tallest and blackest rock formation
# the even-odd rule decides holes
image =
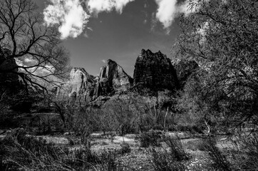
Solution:
[[[150,50],[141,51],[136,59],[133,73],[133,86],[137,90],[158,92],[159,90],[176,90],[177,74],[170,58]]]

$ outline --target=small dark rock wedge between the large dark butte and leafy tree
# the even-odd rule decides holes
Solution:
[[[175,66],[180,88],[184,88],[187,79],[197,70],[197,68],[199,68],[199,66],[195,61],[180,61]]]

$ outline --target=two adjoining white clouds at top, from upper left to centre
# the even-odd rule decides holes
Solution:
[[[100,12],[118,11],[122,13],[123,8],[130,2],[135,0],[83,0],[88,8],[83,9],[80,0],[49,0],[50,4],[44,9],[44,21],[49,25],[59,24],[58,31],[61,38],[76,38],[88,24],[88,19]],[[88,27],[88,30],[92,28]],[[88,33],[84,32],[84,36],[88,37]]]

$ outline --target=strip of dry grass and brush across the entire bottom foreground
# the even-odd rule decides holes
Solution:
[[[80,144],[54,145],[26,135],[25,130],[14,130],[0,140],[0,170],[130,170],[140,166],[165,171],[195,170],[206,166],[210,170],[258,170],[258,138],[255,134],[239,137],[239,150],[222,148],[215,138],[181,142],[177,136],[147,135],[150,140],[156,136],[158,139],[138,150],[139,146],[122,141],[118,144],[106,140],[101,145],[101,142],[92,143],[91,139],[84,137],[78,138],[81,138]],[[143,136],[143,140],[149,140]],[[198,154],[194,153],[196,150],[199,150]],[[189,167],[195,164],[198,167]]]

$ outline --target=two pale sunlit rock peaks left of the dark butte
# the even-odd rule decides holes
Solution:
[[[101,95],[113,95],[129,90],[133,84],[132,80],[121,66],[108,60],[107,66],[100,68],[97,77],[88,74],[84,68],[73,68],[69,81],[63,83],[57,91],[57,97],[90,102]]]

